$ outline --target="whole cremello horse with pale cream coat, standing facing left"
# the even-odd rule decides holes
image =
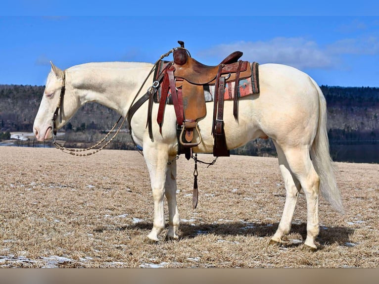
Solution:
[[[52,138],[51,119],[56,109],[63,77],[65,95],[62,103],[61,128],[86,102],[95,101],[126,116],[132,101],[152,68],[150,63],[103,62],[73,66],[65,71],[51,63],[45,93],[35,122],[34,133],[39,141]],[[307,74],[280,64],[259,66],[260,94],[240,98],[238,121],[233,116],[233,100],[225,101],[224,121],[228,148],[233,149],[259,138],[270,137],[277,149],[286,200],[278,230],[270,243],[281,243],[289,233],[300,189],[307,202],[307,237],[304,248],[315,250],[319,233],[319,189],[337,211],[343,211],[336,187],[327,137],[326,101],[318,85]],[[142,96],[152,84],[147,80]],[[156,118],[158,104],[153,106]],[[207,115],[198,123],[202,142],[194,152],[211,153],[213,102],[207,103]],[[143,156],[150,174],[154,199],[154,222],[147,240],[158,240],[165,227],[164,195],[168,201],[169,230],[166,237],[177,239],[179,213],[176,202],[176,161],[178,141],[174,107],[167,105],[159,133],[153,119],[153,141],[146,129],[147,102],[131,121],[134,141],[143,147]],[[168,163],[168,161],[172,161]]]

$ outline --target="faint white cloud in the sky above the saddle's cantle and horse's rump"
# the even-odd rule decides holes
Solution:
[[[218,45],[198,52],[199,57],[213,57],[221,60],[227,54],[240,50],[243,59],[263,63],[281,63],[299,69],[341,68],[345,65],[342,55],[379,54],[379,40],[376,37],[343,39],[330,45],[319,46],[304,38],[274,38],[263,42],[237,42]]]

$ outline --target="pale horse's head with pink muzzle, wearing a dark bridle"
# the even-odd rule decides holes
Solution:
[[[33,125],[33,132],[38,141],[51,139],[53,123],[55,123],[55,130],[60,129],[77,109],[77,107],[70,105],[70,101],[67,102],[72,97],[68,97],[67,95],[61,97],[63,95],[61,91],[64,90],[62,86],[64,87],[65,85],[65,72],[54,66],[52,62],[50,63],[51,71],[48,74],[44,96]],[[58,106],[60,108],[59,114],[56,111]],[[54,113],[56,119],[53,122]]]

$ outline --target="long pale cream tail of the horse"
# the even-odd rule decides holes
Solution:
[[[320,87],[312,78],[311,80],[319,95],[320,111],[316,137],[311,147],[311,158],[313,166],[320,177],[321,194],[328,200],[335,210],[343,213],[342,198],[335,181],[335,169],[333,167],[332,158],[329,152],[329,140],[327,133],[327,103]]]

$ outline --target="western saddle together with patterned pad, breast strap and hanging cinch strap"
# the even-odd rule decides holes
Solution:
[[[205,102],[214,101],[212,125],[212,135],[214,137],[213,155],[216,157],[229,156],[230,153],[226,144],[223,121],[224,99],[234,99],[233,114],[237,120],[238,96],[259,93],[259,64],[256,62],[250,64],[248,61],[238,60],[242,56],[242,52],[235,51],[222,60],[219,65],[207,66],[190,56],[190,52],[184,47],[184,42],[178,41],[178,43],[180,47],[173,48],[168,53],[163,54],[154,64],[152,69],[155,70],[153,85],[138,101],[132,102],[132,106],[128,112],[128,122],[131,132],[130,122],[134,113],[148,100],[146,127],[148,127],[150,139],[153,140],[151,117],[153,102],[159,102],[157,123],[160,132],[162,130],[166,104],[174,105],[177,120],[178,154],[184,153],[188,160],[191,157],[195,160],[192,206],[196,208],[198,195],[197,162],[199,160],[197,160],[196,154],[194,157],[192,156],[192,147],[197,146],[202,140],[197,121],[206,115]],[[174,55],[173,61],[161,60],[171,52]],[[250,83],[248,83],[249,80]],[[247,82],[246,85],[244,85],[245,82]],[[242,92],[241,90],[244,87],[246,87],[246,90]],[[212,92],[209,92],[212,99],[207,100],[205,94],[210,90],[212,90]],[[197,138],[195,139],[193,138],[194,132],[197,133]],[[215,161],[207,164],[211,165]]]

